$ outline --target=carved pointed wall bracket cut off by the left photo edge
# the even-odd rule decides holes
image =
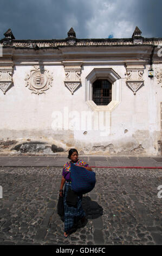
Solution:
[[[5,94],[12,85],[12,66],[0,67],[0,88]]]

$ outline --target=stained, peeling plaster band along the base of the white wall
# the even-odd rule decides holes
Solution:
[[[26,133],[26,134],[25,134]],[[158,144],[159,132],[136,131],[133,135],[131,131],[122,133],[118,139],[105,137],[105,142],[97,142],[99,138],[83,141],[74,139],[74,131],[30,131],[20,132],[9,131],[10,137],[6,141],[0,141],[0,153],[10,154],[66,154],[70,148],[76,148],[79,154],[93,155],[156,155],[160,154],[161,145]],[[19,135],[19,136],[17,136]],[[24,137],[21,137],[24,135]],[[83,135],[87,137],[87,135]],[[155,141],[153,138],[157,138]],[[17,144],[16,144],[17,143]],[[14,145],[14,147],[13,147]]]

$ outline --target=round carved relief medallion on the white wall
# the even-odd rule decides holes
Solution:
[[[44,90],[48,90],[52,86],[53,77],[49,74],[47,69],[43,66],[34,66],[30,70],[30,74],[25,77],[26,87],[33,90],[32,93],[42,94]]]

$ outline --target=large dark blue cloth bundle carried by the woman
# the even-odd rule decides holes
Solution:
[[[70,173],[73,191],[86,194],[93,190],[96,182],[94,172],[71,163]]]

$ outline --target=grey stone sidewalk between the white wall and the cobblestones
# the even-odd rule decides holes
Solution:
[[[162,156],[92,156],[79,155],[92,167],[161,167]],[[65,155],[0,155],[0,167],[62,167],[69,161]]]

